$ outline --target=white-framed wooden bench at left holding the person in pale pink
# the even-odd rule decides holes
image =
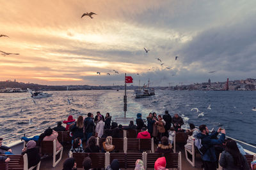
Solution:
[[[61,160],[63,153],[63,146],[61,146],[60,150],[56,150],[56,140],[54,141],[41,141],[40,153],[52,155],[52,167],[55,167]],[[56,161],[56,155],[60,153],[60,158]]]

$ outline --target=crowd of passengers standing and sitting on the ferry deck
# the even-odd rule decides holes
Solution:
[[[106,113],[104,117],[97,111],[95,117],[93,117],[92,113],[88,113],[86,118],[79,116],[77,120],[70,115],[67,120],[63,121],[63,124],[67,124],[66,127],[63,127],[61,122],[57,122],[56,127],[46,129],[40,136],[34,136],[33,138],[23,137],[22,139],[28,141],[28,143],[23,148],[22,154],[28,154],[29,167],[35,166],[42,157],[38,149],[41,141],[53,141],[55,139],[56,150],[60,150],[61,143],[57,139],[58,131],[70,132],[70,136],[72,136],[70,152],[72,153],[118,152],[112,143],[113,138],[122,138],[120,131],[130,129],[141,130],[137,138],[154,138],[154,143],[157,145],[156,153],[172,153],[175,132],[185,132],[189,135],[185,147],[191,149],[195,142],[196,148],[201,153],[205,170],[217,169],[219,163],[223,169],[249,169],[243,148],[236,141],[225,139],[225,129],[219,128],[218,131],[210,133],[206,125],[200,125],[199,129],[197,129],[194,124],[189,124],[189,130],[185,131],[182,129],[182,125],[184,125],[182,118],[177,113],[171,117],[167,110],[163,117],[155,112],[149,113],[147,125],[143,121],[141,113],[138,113],[136,117],[136,125],[131,121],[127,127],[122,127],[116,122],[111,122],[109,113]],[[218,137],[219,133],[221,135]],[[101,148],[97,145],[97,137],[106,138]],[[12,150],[7,146],[3,146],[2,143],[3,138],[0,138],[0,154],[12,154]],[[219,162],[220,153],[222,154]],[[10,159],[6,156],[1,156],[0,161],[8,162]],[[84,169],[90,169],[91,165],[92,160],[90,157],[85,158],[83,161]],[[137,160],[134,167],[135,169],[144,169],[143,161]],[[76,169],[75,160],[72,158],[65,160],[63,169]],[[113,160],[107,169],[119,169],[118,160]],[[166,169],[164,157],[157,159],[155,169]]]

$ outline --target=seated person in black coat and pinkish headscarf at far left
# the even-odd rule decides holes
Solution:
[[[39,155],[39,148],[36,147],[36,142],[31,140],[28,141],[27,146],[22,149],[21,155],[27,153],[28,155],[28,168],[36,166],[41,160]]]

